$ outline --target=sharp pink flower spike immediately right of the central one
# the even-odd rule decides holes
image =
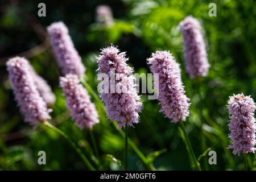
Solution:
[[[159,84],[155,84],[155,88],[159,92],[160,111],[172,122],[185,121],[190,103],[185,96],[179,64],[168,51],[156,51],[147,61],[151,72],[159,74]]]

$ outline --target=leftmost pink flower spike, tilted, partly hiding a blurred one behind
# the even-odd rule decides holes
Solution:
[[[16,101],[24,114],[26,122],[36,125],[46,119],[51,119],[46,102],[40,96],[33,77],[30,64],[23,57],[14,57],[7,61],[9,79],[13,86]]]

